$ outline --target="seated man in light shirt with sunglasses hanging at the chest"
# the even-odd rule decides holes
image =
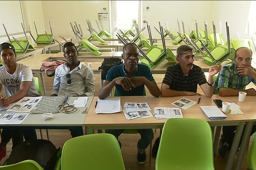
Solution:
[[[51,96],[94,96],[93,70],[78,60],[75,44],[66,42],[63,46],[65,64],[55,70]],[[76,130],[70,130],[71,136],[78,136]]]

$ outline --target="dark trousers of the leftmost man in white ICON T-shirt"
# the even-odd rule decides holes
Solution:
[[[37,139],[35,129],[3,129],[1,142],[8,143],[12,139],[12,148],[14,148],[23,142],[23,136],[26,141]]]

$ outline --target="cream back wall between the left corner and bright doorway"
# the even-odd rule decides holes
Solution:
[[[64,37],[72,37],[73,42],[77,42],[70,27],[70,22],[76,21],[81,25],[84,37],[89,37],[90,33],[87,31],[86,20],[90,20],[92,27],[98,30],[96,21],[98,13],[103,7],[108,8],[108,0],[43,0],[44,23],[47,31],[49,31],[49,21],[52,24],[52,31],[54,37],[59,35]],[[109,20],[102,21],[106,30],[109,30]]]

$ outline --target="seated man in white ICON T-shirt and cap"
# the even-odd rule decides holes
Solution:
[[[4,86],[8,96],[1,96],[0,105],[7,107],[24,96],[40,96],[35,88],[31,68],[16,62],[15,48],[11,44],[4,42],[0,45],[0,54],[1,61],[4,63],[0,67],[0,91]],[[23,135],[25,140],[37,139],[35,129],[3,129],[0,143],[0,160],[6,156],[6,145],[10,139],[12,138],[12,147],[15,147],[23,142]]]

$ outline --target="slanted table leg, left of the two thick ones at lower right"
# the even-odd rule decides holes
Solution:
[[[225,170],[231,170],[232,169],[232,166],[233,166],[233,163],[234,163],[234,160],[235,160],[235,156],[236,156],[236,151],[237,151],[240,139],[241,139],[243,129],[244,129],[244,122],[240,122],[239,125],[236,128],[235,137],[234,137],[234,140],[233,140],[233,144],[232,144],[232,147],[231,147],[231,150],[230,150],[229,157],[227,159],[227,165],[226,165]]]

